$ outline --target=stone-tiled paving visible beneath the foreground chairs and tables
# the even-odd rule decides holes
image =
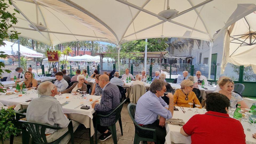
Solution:
[[[248,105],[248,107],[250,108],[253,100],[250,98],[244,98],[246,104]],[[127,111],[127,105],[128,103],[123,105],[123,109],[121,111],[121,118],[122,118],[122,127],[123,127],[123,135],[121,135],[121,130],[120,130],[120,126],[119,123],[116,123],[116,129],[117,129],[117,142],[120,144],[132,144],[133,140],[134,140],[134,124],[133,121],[131,120],[128,111]],[[98,137],[100,136],[100,133],[98,133]],[[95,135],[94,137],[94,143],[95,143]],[[10,141],[5,141],[4,144],[9,144]],[[21,135],[14,137],[14,144],[21,144],[22,143],[22,138]],[[31,141],[30,141],[31,143]],[[69,142],[70,143],[70,142]],[[75,131],[75,143],[81,143],[81,144],[89,144],[89,131],[88,129],[85,129],[85,127],[78,127],[78,129]],[[99,141],[99,144],[102,143],[108,143],[111,144],[113,143],[113,139],[108,138],[106,141]]]

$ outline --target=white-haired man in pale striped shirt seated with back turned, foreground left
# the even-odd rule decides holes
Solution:
[[[57,87],[49,82],[41,83],[37,88],[39,98],[34,98],[27,107],[26,118],[29,122],[44,123],[51,126],[62,127],[62,129],[46,129],[45,135],[48,143],[60,138],[68,131],[69,119],[63,114],[61,103],[54,97],[57,94]],[[73,121],[73,130],[77,129],[79,123]],[[59,143],[69,142],[70,134],[66,135]]]

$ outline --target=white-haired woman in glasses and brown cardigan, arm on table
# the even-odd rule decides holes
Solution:
[[[85,76],[84,75],[78,75],[77,76],[77,81],[78,82],[74,83],[70,88],[68,88],[64,91],[61,91],[60,93],[64,94],[64,93],[69,93],[70,91],[72,93],[79,93],[79,91],[86,91],[87,86],[84,83],[85,82]],[[57,93],[57,94],[59,94],[59,93]]]

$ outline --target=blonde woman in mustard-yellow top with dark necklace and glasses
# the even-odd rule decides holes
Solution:
[[[174,106],[190,107],[189,102],[200,105],[198,108],[202,108],[197,96],[192,91],[194,83],[189,79],[181,81],[181,89],[177,89],[173,95]]]

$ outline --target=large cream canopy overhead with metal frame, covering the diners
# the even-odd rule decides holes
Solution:
[[[16,8],[21,12],[15,15],[19,21],[15,28],[21,36],[53,46],[82,40],[106,41],[119,46],[127,41],[159,37],[213,42],[232,23],[256,10],[255,0],[183,0],[170,4],[169,0],[13,1],[9,11],[14,12]],[[160,13],[168,8],[176,10],[163,12],[166,15]],[[40,26],[40,22],[45,27]],[[209,63],[212,46],[213,43]],[[119,50],[118,47],[118,59]]]

